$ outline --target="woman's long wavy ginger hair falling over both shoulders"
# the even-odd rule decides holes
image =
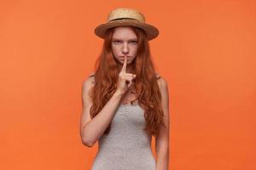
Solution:
[[[135,88],[132,89],[132,93],[136,94],[137,98],[131,101],[131,103],[136,100],[138,101],[138,104],[144,110],[144,118],[146,120],[146,127],[143,130],[147,130],[148,133],[155,136],[161,125],[166,127],[163,123],[164,113],[161,107],[160,88],[158,86],[153,62],[150,59],[151,54],[147,36],[143,30],[137,27],[131,26],[131,29],[137,35],[138,40],[137,56],[131,63],[131,73],[137,75],[134,80]],[[96,59],[95,84],[91,91],[91,118],[102,111],[102,108],[106,105],[117,88],[116,84],[122,65],[118,65],[117,62],[119,61],[113,57],[111,48],[113,31],[114,28],[111,28],[106,32],[102,54]],[[108,134],[110,127],[111,122],[104,133]]]

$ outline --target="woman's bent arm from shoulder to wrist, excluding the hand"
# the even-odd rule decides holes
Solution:
[[[123,95],[119,91],[116,91],[111,99],[108,100],[108,103],[104,105],[102,111],[91,120],[90,107],[92,101],[89,93],[93,86],[93,78],[94,77],[88,78],[82,86],[83,111],[80,122],[80,136],[82,143],[88,147],[92,147],[107,129]]]

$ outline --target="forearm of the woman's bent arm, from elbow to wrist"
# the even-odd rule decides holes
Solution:
[[[93,145],[96,143],[97,139],[102,136],[109,123],[112,121],[122,96],[123,94],[116,91],[108,100],[107,104],[104,105],[102,111],[82,128],[82,139],[86,141],[86,143]]]

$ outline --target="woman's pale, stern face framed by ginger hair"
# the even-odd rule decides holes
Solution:
[[[113,57],[123,64],[125,56],[129,65],[137,56],[137,35],[129,26],[114,28],[111,42]]]

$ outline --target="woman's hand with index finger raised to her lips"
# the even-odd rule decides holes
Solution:
[[[136,77],[136,75],[131,73],[126,73],[126,65],[127,65],[127,58],[125,56],[124,65],[122,70],[119,72],[119,80],[117,83],[117,90],[121,94],[125,94],[125,92],[131,87],[132,80]]]

